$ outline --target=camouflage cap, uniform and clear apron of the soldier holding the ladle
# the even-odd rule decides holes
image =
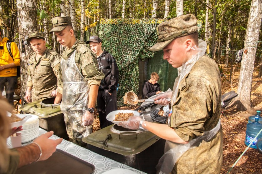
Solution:
[[[149,50],[161,50],[177,37],[196,33],[196,24],[196,17],[192,14],[161,23],[157,27],[158,43]],[[195,51],[191,58],[184,55],[180,57],[186,62],[182,64],[181,77],[177,77],[174,84],[172,115],[168,120],[168,125],[176,134],[189,143],[166,141],[165,152],[172,153],[165,153],[164,156],[166,159],[174,157],[175,160],[170,160],[168,161],[170,163],[166,164],[161,163],[163,160],[160,159],[158,166],[163,167],[161,171],[162,169],[171,171],[173,168],[171,173],[213,174],[220,173],[222,167],[221,79],[216,63],[204,55],[206,44],[203,43],[204,41],[201,41],[201,48],[199,45],[192,46],[192,49],[194,47],[194,50],[199,51]],[[206,140],[204,134],[212,136]],[[172,157],[168,158],[168,154]]]

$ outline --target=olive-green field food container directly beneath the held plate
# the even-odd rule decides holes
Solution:
[[[82,139],[91,151],[115,161],[155,174],[164,153],[165,140],[151,132],[110,125]]]

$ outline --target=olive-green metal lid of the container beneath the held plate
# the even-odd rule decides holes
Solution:
[[[127,156],[141,153],[160,139],[149,131],[138,134],[115,134],[110,131],[112,126],[114,125],[98,130],[83,138],[82,141],[95,147]],[[111,134],[112,138],[107,140],[108,147],[106,147],[101,140],[106,139],[108,134]]]

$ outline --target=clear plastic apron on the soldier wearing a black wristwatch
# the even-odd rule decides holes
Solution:
[[[87,109],[89,85],[75,64],[75,53],[61,59],[63,97],[61,111],[64,113],[69,138],[83,138],[90,134],[90,126],[82,126],[82,115]],[[71,130],[72,129],[72,130]]]

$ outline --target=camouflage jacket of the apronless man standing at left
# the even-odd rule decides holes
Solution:
[[[51,97],[51,92],[56,88],[57,92],[62,93],[60,55],[56,51],[46,48],[40,58],[36,58],[36,53],[31,55],[28,60],[27,87],[33,87],[32,101]]]

